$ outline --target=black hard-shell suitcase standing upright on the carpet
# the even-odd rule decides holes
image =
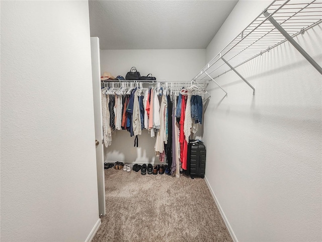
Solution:
[[[187,174],[193,179],[194,176],[205,177],[206,147],[198,140],[189,140]]]

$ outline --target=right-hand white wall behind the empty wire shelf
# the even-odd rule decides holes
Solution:
[[[208,46],[208,60],[267,5],[239,1]],[[321,37],[319,25],[295,38],[320,66]],[[233,72],[216,79],[227,98],[208,86],[211,189],[239,241],[321,241],[321,75],[288,42],[237,71],[255,96]]]

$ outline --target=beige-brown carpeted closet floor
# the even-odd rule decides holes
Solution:
[[[92,242],[232,241],[202,178],[105,170],[107,214]]]

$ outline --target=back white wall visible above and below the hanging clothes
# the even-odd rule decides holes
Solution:
[[[101,50],[101,72],[125,77],[135,66],[142,76],[151,73],[157,80],[191,79],[205,66],[205,49],[134,49]],[[105,160],[158,163],[154,156],[155,139],[143,130],[134,148],[134,137],[127,131],[116,131],[112,145],[105,149]]]

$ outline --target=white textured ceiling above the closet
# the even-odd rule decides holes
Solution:
[[[89,1],[101,49],[206,48],[238,1]]]

